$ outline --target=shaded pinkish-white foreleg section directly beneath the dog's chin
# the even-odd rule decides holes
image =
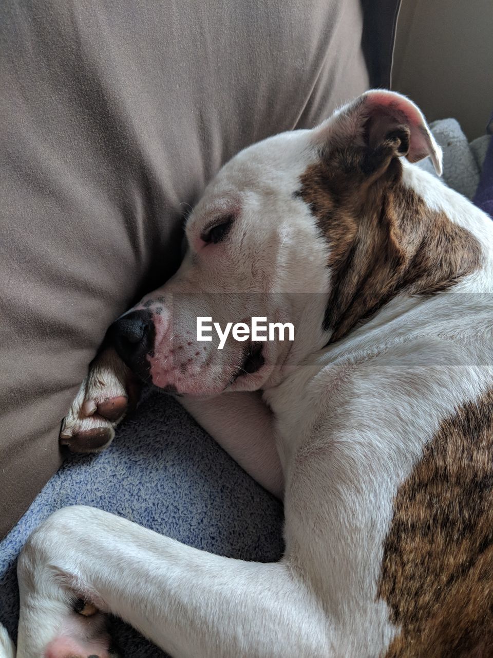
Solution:
[[[284,478],[273,415],[260,393],[223,393],[179,401],[248,474],[278,498]]]

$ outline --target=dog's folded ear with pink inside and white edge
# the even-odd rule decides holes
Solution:
[[[315,128],[314,140],[322,150],[348,149],[364,153],[361,164],[371,174],[393,157],[415,163],[429,155],[436,173],[442,173],[442,149],[434,141],[419,108],[408,98],[385,89],[367,91]]]

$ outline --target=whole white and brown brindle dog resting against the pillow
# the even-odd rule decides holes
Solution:
[[[388,91],[239,153],[177,274],[113,326],[127,365],[103,351],[65,420],[63,442],[99,449],[131,371],[187,394],[283,492],[283,559],[62,509],[22,551],[2,658],[106,658],[105,613],[175,657],[493,655],[493,222],[411,164],[427,155],[439,172],[422,114]],[[252,310],[294,341],[197,342],[197,316]]]

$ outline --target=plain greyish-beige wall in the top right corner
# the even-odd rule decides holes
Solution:
[[[392,87],[469,139],[493,111],[493,0],[402,0]]]

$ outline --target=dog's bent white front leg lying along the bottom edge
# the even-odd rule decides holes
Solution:
[[[83,617],[77,599],[122,617],[175,658],[327,658],[325,615],[299,567],[212,555],[67,507],[20,557],[17,658],[109,658],[102,613]]]

